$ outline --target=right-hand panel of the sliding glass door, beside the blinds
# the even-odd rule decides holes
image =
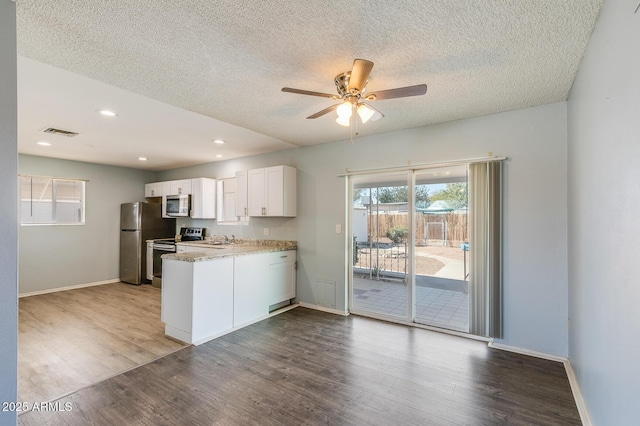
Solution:
[[[468,332],[467,168],[422,170],[415,180],[414,321]]]

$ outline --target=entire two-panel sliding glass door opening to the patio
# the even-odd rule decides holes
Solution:
[[[351,178],[354,313],[469,331],[467,167]]]

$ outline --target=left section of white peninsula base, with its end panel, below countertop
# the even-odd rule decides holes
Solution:
[[[233,258],[162,261],[165,333],[199,344],[233,328]]]

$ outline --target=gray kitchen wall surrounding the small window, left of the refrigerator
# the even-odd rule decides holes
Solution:
[[[144,201],[156,173],[30,155],[19,171],[88,180],[85,225],[20,227],[20,293],[118,279],[120,204]]]

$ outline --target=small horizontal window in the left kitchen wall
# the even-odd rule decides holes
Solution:
[[[20,176],[20,224],[84,224],[84,187],[82,180]]]

